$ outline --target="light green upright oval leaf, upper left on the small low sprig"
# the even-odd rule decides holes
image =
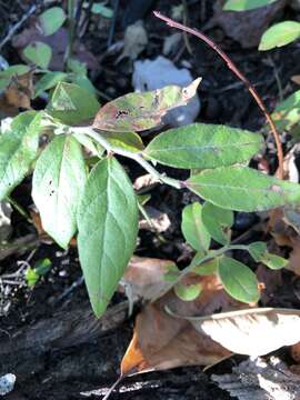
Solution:
[[[210,234],[202,221],[202,206],[199,202],[184,207],[181,231],[184,239],[198,251],[206,251],[210,246]]]

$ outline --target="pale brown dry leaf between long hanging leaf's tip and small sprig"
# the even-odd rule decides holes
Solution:
[[[121,283],[130,287],[130,292],[134,298],[151,300],[159,297],[168,288],[169,282],[163,277],[170,268],[174,267],[174,262],[170,260],[133,256]]]

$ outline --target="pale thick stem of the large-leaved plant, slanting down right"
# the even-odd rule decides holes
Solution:
[[[96,132],[93,129],[91,128],[71,128],[71,131],[74,133],[82,133],[82,134],[88,134],[90,138],[92,138],[93,140],[96,140],[99,144],[101,144],[108,152],[112,152],[119,156],[123,156],[127,157],[131,160],[134,160],[136,162],[138,162],[143,169],[146,169],[147,172],[151,173],[151,176],[156,177],[161,183],[166,183],[171,186],[172,188],[176,189],[182,189],[184,187],[184,183],[166,177],[162,173],[159,173],[144,158],[141,153],[136,153],[136,152],[131,152],[129,150],[126,149],[121,149],[114,146],[111,146],[107,139],[104,139],[99,132]]]

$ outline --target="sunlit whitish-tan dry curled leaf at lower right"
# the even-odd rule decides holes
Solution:
[[[194,318],[190,322],[198,331],[239,354],[267,354],[294,344],[300,338],[299,310],[249,309]]]

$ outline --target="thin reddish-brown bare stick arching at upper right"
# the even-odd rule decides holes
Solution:
[[[249,92],[252,94],[256,102],[258,103],[259,108],[263,112],[263,114],[270,126],[271,132],[272,132],[274,141],[276,141],[276,146],[277,146],[277,157],[278,157],[278,166],[279,166],[278,167],[278,178],[283,179],[283,152],[282,152],[282,146],[281,146],[279,132],[276,128],[276,124],[274,124],[263,100],[261,99],[261,97],[259,96],[257,90],[253,88],[253,86],[249,82],[249,80],[244,77],[244,74],[238,69],[238,67],[234,64],[234,62],[213,42],[213,40],[208,38],[206,34],[203,34],[202,32],[200,32],[197,29],[192,29],[192,28],[186,27],[182,23],[176,22],[172,19],[162,16],[158,11],[153,11],[153,14],[157,18],[161,19],[162,21],[167,22],[167,24],[169,27],[172,27],[172,28],[182,30],[183,32],[193,34],[197,38],[204,41],[211,49],[213,49],[224,60],[228,68],[244,83],[244,86],[247,87],[247,89],[249,90]]]

